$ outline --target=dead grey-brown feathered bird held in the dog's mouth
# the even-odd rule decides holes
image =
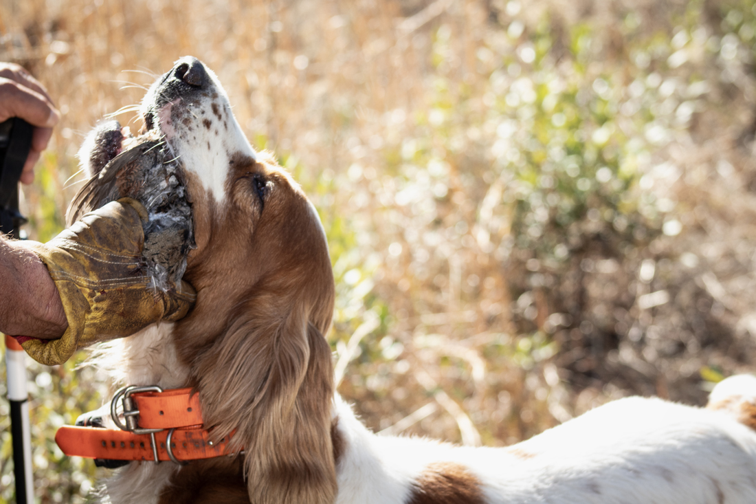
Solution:
[[[189,250],[196,247],[184,167],[163,138],[150,132],[133,137],[118,121],[89,133],[80,156],[89,177],[71,201],[67,226],[85,213],[119,198],[134,198],[147,209],[142,252],[151,287],[178,285]]]

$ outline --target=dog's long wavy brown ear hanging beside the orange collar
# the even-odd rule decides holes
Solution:
[[[333,502],[330,347],[311,322],[317,314],[280,303],[247,300],[200,356],[203,418],[218,437],[234,431],[232,446],[245,450],[251,502]]]

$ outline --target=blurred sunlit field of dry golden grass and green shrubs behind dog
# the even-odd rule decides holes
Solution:
[[[321,213],[339,391],[370,428],[502,446],[754,369],[753,0],[0,0],[0,61],[63,113],[31,238],[62,229],[88,129],[138,129],[119,109],[185,54]],[[107,471],[53,441],[107,397],[84,359],[30,363],[41,502]]]

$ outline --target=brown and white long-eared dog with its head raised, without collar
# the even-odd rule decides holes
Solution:
[[[253,150],[212,72],[182,58],[144,98],[147,132],[183,163],[194,216],[179,322],[104,345],[115,381],[194,387],[206,428],[243,454],[131,462],[102,502],[460,504],[756,502],[756,378],[708,409],[629,398],[509,448],[378,436],[334,390],[334,285],[301,188]],[[116,146],[114,151],[118,151]],[[86,153],[85,153],[86,155]]]

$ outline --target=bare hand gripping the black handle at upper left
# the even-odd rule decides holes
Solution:
[[[47,148],[52,127],[60,120],[50,95],[20,65],[0,61],[0,123],[20,117],[34,127],[32,148],[23,165],[21,182],[34,182],[34,165]]]

